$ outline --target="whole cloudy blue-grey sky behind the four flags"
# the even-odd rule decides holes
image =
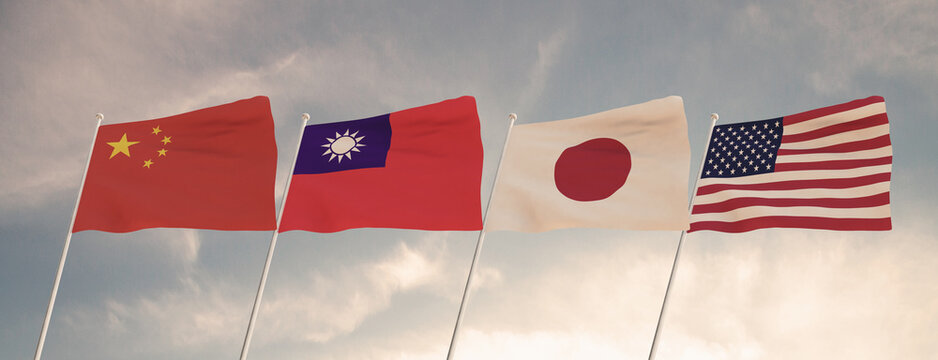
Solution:
[[[0,2],[0,358],[33,355],[94,114],[270,97],[278,201],[299,135],[476,97],[488,198],[507,132],[684,98],[721,123],[881,95],[894,230],[694,233],[659,359],[938,356],[934,1]],[[483,201],[485,203],[485,201]],[[44,359],[232,359],[270,232],[86,231]],[[280,237],[252,359],[442,359],[476,232]],[[647,357],[678,232],[491,233],[457,359]]]

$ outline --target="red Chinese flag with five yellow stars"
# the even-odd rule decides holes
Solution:
[[[264,96],[103,125],[72,231],[273,230],[276,168]]]

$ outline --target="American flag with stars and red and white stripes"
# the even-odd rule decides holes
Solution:
[[[689,231],[889,230],[882,97],[714,127]]]

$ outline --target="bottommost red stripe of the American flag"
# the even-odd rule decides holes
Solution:
[[[796,228],[844,231],[881,231],[892,229],[891,218],[880,219],[837,219],[811,216],[766,216],[736,222],[698,221],[690,224],[690,230],[741,233],[765,228]]]

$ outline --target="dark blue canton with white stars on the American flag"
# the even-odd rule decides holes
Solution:
[[[782,118],[713,128],[702,178],[739,177],[775,171],[782,144]]]

